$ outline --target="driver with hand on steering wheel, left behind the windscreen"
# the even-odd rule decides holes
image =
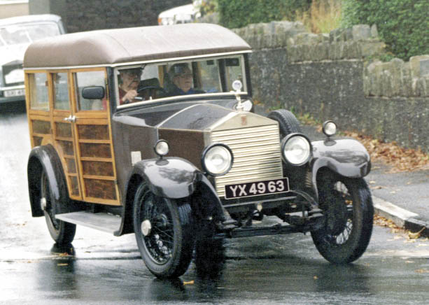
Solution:
[[[128,104],[136,101],[137,87],[139,87],[141,69],[123,69],[119,71],[119,104]]]

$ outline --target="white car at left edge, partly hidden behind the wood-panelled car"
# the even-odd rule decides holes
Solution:
[[[61,17],[57,15],[0,19],[0,103],[25,98],[22,60],[28,45],[64,33]]]

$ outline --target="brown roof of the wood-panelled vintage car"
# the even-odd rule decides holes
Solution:
[[[55,36],[29,45],[24,67],[110,65],[251,50],[217,24],[105,29]]]

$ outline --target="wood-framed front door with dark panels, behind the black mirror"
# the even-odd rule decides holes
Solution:
[[[119,205],[106,83],[104,68],[71,70],[71,120],[83,200]],[[88,86],[104,87],[104,99],[84,99]]]

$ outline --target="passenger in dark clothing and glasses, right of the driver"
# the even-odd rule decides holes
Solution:
[[[171,97],[175,95],[205,93],[202,90],[196,90],[192,87],[192,71],[190,71],[186,63],[174,64],[171,66],[169,69],[169,76],[173,83],[168,92]]]

